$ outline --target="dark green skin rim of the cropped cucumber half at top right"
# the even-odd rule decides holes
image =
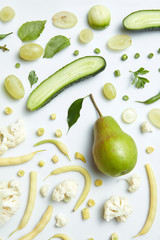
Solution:
[[[127,16],[123,19],[123,21],[122,21],[124,28],[127,29],[127,30],[130,30],[130,31],[136,31],[136,32],[159,30],[159,29],[160,29],[160,22],[159,22],[159,26],[157,26],[157,27],[146,27],[146,28],[140,28],[140,29],[127,28],[127,27],[125,26],[125,20],[126,20],[128,17],[130,17],[131,15],[136,14],[136,13],[139,13],[139,12],[142,12],[142,13],[143,13],[143,12],[154,12],[154,11],[159,11],[159,12],[160,12],[160,9],[138,10],[138,11],[135,11],[135,12],[130,13],[130,14],[127,15]]]

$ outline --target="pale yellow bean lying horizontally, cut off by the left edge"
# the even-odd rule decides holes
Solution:
[[[0,166],[11,166],[11,165],[18,165],[22,163],[26,163],[30,161],[34,155],[38,152],[43,152],[45,150],[39,150],[24,156],[20,157],[9,157],[9,158],[0,158]]]

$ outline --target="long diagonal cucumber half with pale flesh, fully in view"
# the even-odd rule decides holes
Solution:
[[[30,94],[27,108],[34,111],[43,107],[70,85],[95,76],[105,67],[105,59],[99,56],[86,56],[67,64],[45,79]]]

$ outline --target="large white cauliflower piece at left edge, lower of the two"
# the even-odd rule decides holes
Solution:
[[[11,180],[0,183],[0,226],[17,212],[20,195],[19,182]]]

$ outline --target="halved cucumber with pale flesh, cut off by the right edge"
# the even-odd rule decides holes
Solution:
[[[129,30],[159,29],[160,9],[133,12],[123,19],[123,26]]]

